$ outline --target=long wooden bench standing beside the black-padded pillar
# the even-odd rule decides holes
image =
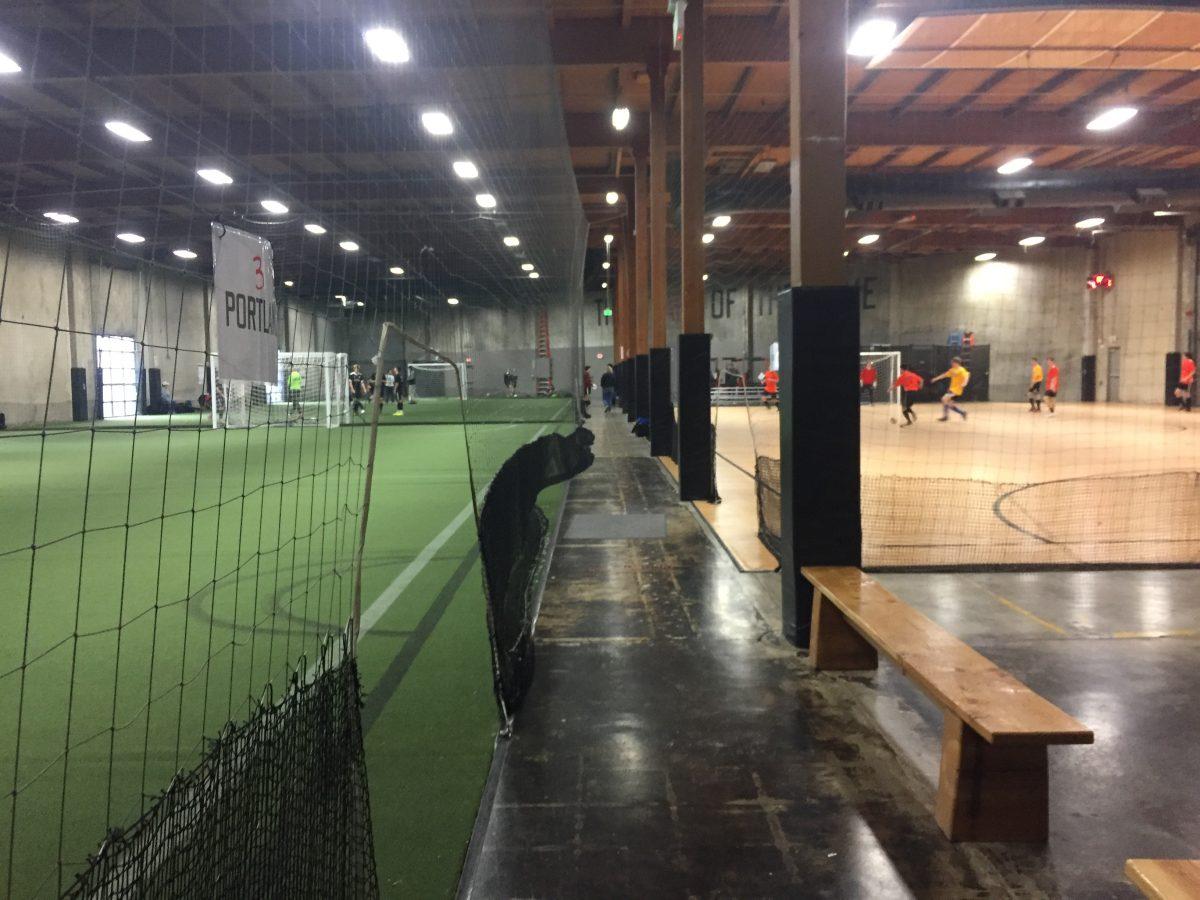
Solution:
[[[1046,746],[1092,732],[858,569],[804,568],[816,670],[876,668],[878,653],[943,712],[935,812],[954,841],[1044,841]]]

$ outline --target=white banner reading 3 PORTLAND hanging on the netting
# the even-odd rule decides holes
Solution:
[[[278,380],[270,241],[212,223],[212,307],[217,318],[218,376],[272,384]]]

